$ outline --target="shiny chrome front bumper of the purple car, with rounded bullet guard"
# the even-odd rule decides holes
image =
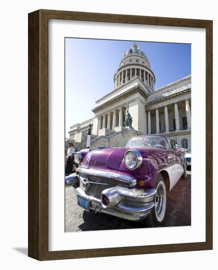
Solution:
[[[77,180],[76,180],[77,178]],[[128,189],[116,186],[104,189],[102,195],[109,198],[109,204],[104,205],[101,199],[88,196],[83,188],[79,187],[79,178],[71,175],[71,186],[75,188],[76,196],[79,194],[89,200],[91,210],[117,216],[127,220],[140,221],[144,219],[155,206],[156,189]]]

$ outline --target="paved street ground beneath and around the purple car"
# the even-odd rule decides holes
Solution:
[[[180,179],[167,194],[167,210],[164,226],[191,225],[191,172],[187,180]],[[93,231],[142,228],[140,222],[126,221],[105,214],[84,211],[77,205],[72,187],[65,188],[65,231]]]

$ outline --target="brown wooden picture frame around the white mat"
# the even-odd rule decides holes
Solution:
[[[206,241],[48,251],[48,20],[79,20],[206,29]],[[58,10],[29,14],[29,256],[55,260],[213,248],[213,22]]]

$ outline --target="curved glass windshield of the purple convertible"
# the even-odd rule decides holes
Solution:
[[[126,147],[159,147],[170,149],[168,139],[163,135],[145,135],[127,141]]]

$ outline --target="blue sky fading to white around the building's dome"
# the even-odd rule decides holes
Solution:
[[[65,136],[93,117],[95,101],[114,89],[113,77],[133,41],[65,39]],[[191,45],[138,42],[156,77],[155,89],[191,74]]]

